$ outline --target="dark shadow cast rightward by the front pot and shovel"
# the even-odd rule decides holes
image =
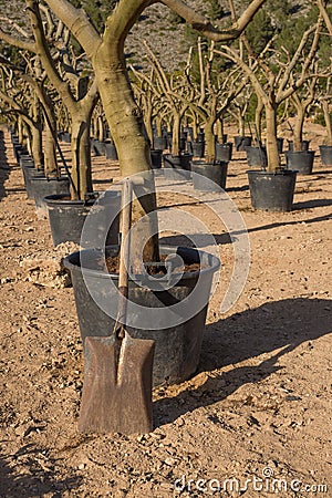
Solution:
[[[264,303],[208,325],[199,372],[211,372],[227,365],[234,367],[220,375],[214,374],[198,388],[157,401],[154,404],[156,426],[225,400],[245,384],[267,378],[281,369],[277,362],[284,354],[331,333],[331,300],[299,298]],[[271,356],[259,365],[237,366],[263,353],[271,353]]]

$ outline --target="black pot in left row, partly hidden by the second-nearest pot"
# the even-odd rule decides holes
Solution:
[[[35,212],[39,219],[48,218],[48,206],[44,197],[52,195],[70,195],[70,179],[68,176],[46,177],[32,176],[31,194],[34,198]]]

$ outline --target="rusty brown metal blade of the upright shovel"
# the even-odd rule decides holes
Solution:
[[[79,418],[83,433],[148,433],[153,429],[152,372],[155,341],[125,331],[85,340]]]

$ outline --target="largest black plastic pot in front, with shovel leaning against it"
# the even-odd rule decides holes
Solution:
[[[128,282],[127,315],[131,319],[131,325],[125,328],[132,338],[153,339],[156,342],[153,369],[155,386],[165,382],[168,384],[184,382],[196,372],[200,357],[212,276],[220,266],[219,259],[204,251],[191,248],[160,247],[160,253],[175,252],[187,263],[198,262],[201,258],[203,269],[184,273],[170,288],[167,277],[158,279],[162,290],[142,287],[142,276],[134,276]],[[108,247],[106,250],[106,256],[116,256],[117,253],[117,246]],[[64,266],[71,272],[73,282],[83,345],[85,338],[107,336],[114,328],[118,299],[118,276],[98,270],[101,257],[103,258],[101,251],[92,249],[74,252],[64,259]],[[86,259],[89,266],[84,263],[84,281],[80,261],[86,261]],[[94,297],[86,288],[86,280],[89,280],[89,287],[91,286],[94,289]],[[115,288],[107,283],[107,280],[111,280]],[[105,286],[110,286],[111,289]],[[106,288],[107,295],[105,298]],[[105,300],[105,311],[96,304],[100,299]],[[183,300],[187,301],[188,309],[195,310],[196,314],[186,319],[185,312],[183,320],[181,315],[179,317],[179,324],[165,328],[163,325],[165,319],[167,321],[167,318],[173,313],[169,307]],[[186,301],[184,305],[186,305]],[[146,312],[149,310],[156,313],[156,319],[153,326],[148,329]]]

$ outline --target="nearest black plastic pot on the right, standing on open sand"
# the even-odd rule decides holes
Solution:
[[[292,209],[297,172],[281,169],[277,173],[248,170],[251,206],[264,211]]]

